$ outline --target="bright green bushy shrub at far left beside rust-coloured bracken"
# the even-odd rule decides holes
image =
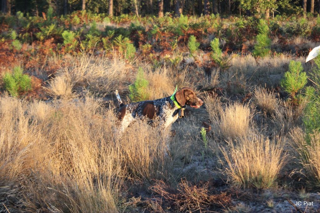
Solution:
[[[23,69],[21,67],[14,67],[13,74],[6,73],[4,75],[4,89],[14,97],[18,96],[20,92],[27,92],[31,90],[30,76],[22,73]]]

